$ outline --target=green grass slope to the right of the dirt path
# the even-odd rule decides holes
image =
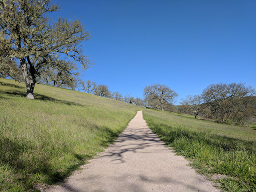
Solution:
[[[143,117],[168,146],[223,190],[256,191],[255,129],[152,109],[143,110]]]

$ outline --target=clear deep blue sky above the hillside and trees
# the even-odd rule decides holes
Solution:
[[[256,88],[256,0],[53,0],[81,17],[94,65],[83,80],[142,97],[166,84],[180,98],[211,83]],[[54,13],[54,15],[56,15]]]

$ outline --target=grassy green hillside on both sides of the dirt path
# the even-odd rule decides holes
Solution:
[[[143,108],[79,91],[0,78],[0,191],[55,183],[92,158]],[[149,127],[227,191],[256,189],[256,130],[143,109]],[[35,189],[36,190],[36,189]]]

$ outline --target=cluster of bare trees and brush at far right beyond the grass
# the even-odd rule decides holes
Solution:
[[[255,90],[244,83],[210,84],[200,95],[181,99],[178,110],[217,122],[244,125],[256,120]]]

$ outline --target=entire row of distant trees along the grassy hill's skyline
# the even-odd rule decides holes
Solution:
[[[0,77],[22,80],[21,71],[15,62],[12,60],[8,62],[8,65],[0,65]],[[65,65],[63,60],[57,62],[63,62],[61,65]],[[52,64],[52,66],[54,65]],[[70,62],[66,64],[66,67],[47,67],[40,74],[36,78],[37,83],[76,89],[138,106],[167,111],[178,110],[182,113],[192,114],[195,118],[200,116],[200,118],[212,119],[221,123],[246,125],[256,121],[255,90],[251,86],[245,86],[244,83],[210,84],[203,89],[200,95],[187,95],[182,98],[179,102],[180,105],[175,108],[172,102],[177,93],[164,84],[147,85],[143,88],[143,98],[135,98],[130,94],[122,95],[118,91],[111,92],[105,84],[81,80],[75,65]]]

